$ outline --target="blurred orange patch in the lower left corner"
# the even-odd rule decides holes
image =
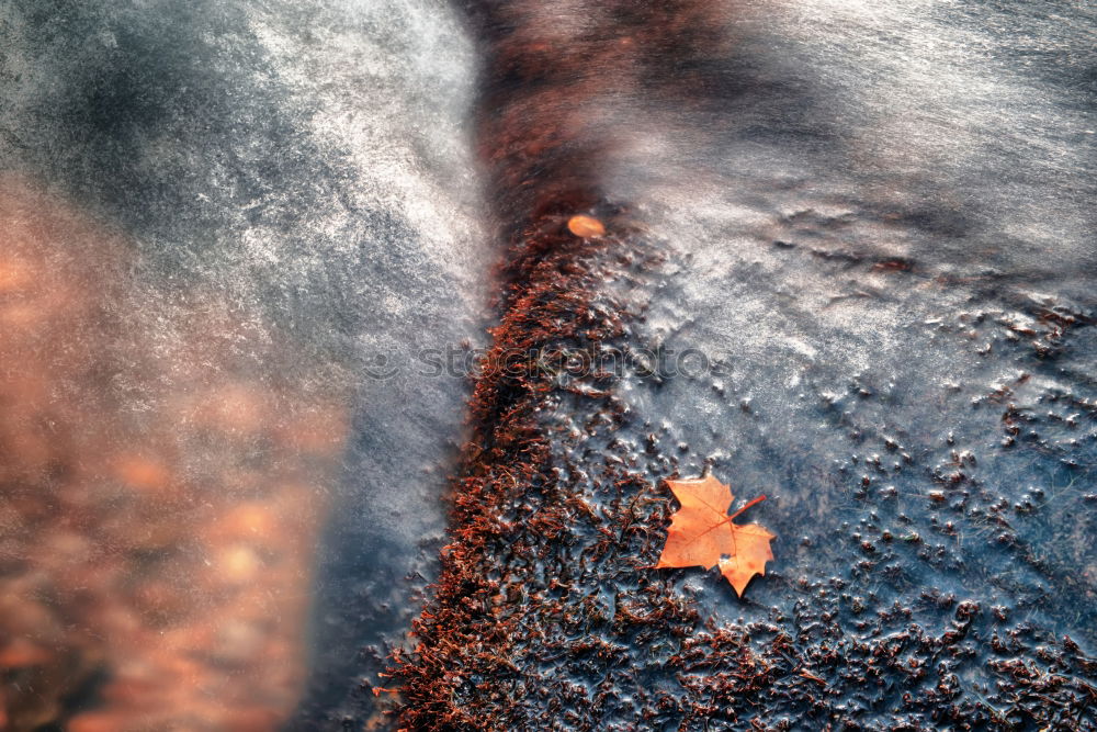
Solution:
[[[341,395],[213,300],[136,306],[126,243],[64,202],[3,180],[0,232],[0,729],[273,728]]]

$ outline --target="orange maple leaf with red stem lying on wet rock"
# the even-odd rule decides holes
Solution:
[[[727,509],[735,500],[730,486],[712,475],[685,481],[667,481],[682,505],[667,529],[667,543],[656,567],[720,566],[720,573],[743,597],[747,583],[756,574],[766,574],[766,562],[773,559],[769,542],[774,538],[758,523],[739,526],[732,520],[757,503],[758,496],[732,516]]]

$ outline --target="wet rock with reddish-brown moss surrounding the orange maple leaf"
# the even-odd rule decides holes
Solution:
[[[1097,723],[1086,216],[1066,203],[1075,238],[1041,262],[1039,236],[1008,239],[1016,219],[991,215],[1004,201],[954,198],[952,176],[977,176],[937,166],[943,147],[902,162],[859,147],[838,129],[864,109],[816,99],[810,71],[771,76],[762,42],[803,41],[780,14],[765,31],[731,23],[731,48],[706,32],[710,4],[635,25],[471,4],[509,289],[452,541],[417,645],[395,654],[402,723]],[[667,70],[685,58],[710,66]],[[686,119],[664,117],[671,99]],[[660,137],[632,158],[606,142],[607,120],[676,127],[691,147]],[[652,165],[653,147],[654,172],[620,172]],[[1019,185],[1054,190],[1042,172]],[[568,214],[543,213],[599,194],[632,204],[606,239],[580,244]],[[530,347],[580,364],[627,356],[612,373],[499,375],[502,354]],[[661,478],[704,472],[770,497],[753,518],[778,533],[777,560],[743,601],[715,572],[653,568],[674,506]]]

